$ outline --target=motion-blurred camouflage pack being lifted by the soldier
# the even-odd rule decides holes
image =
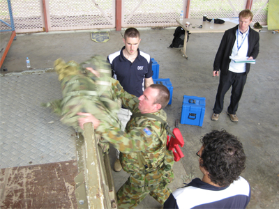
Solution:
[[[93,68],[99,75],[94,75],[86,70],[86,67]],[[78,116],[77,113],[84,112],[96,116],[100,121],[121,127],[121,122],[117,118],[121,102],[112,92],[114,79],[111,78],[112,70],[105,57],[92,56],[80,64],[75,61],[66,63],[60,58],[54,62],[54,70],[61,81],[63,99],[47,102],[43,106],[52,107],[56,114],[62,116],[62,123],[82,132],[78,125],[78,118],[82,116]],[[103,151],[107,151],[109,145],[100,143]]]

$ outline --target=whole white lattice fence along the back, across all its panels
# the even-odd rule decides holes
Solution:
[[[10,0],[17,33],[79,29],[114,29],[118,0]],[[188,17],[238,17],[248,2],[253,22],[266,24],[268,0],[122,0],[121,27],[177,26],[181,10]],[[188,8],[187,8],[188,6]],[[10,22],[8,3],[0,1],[0,20]],[[0,30],[8,26],[0,22]]]

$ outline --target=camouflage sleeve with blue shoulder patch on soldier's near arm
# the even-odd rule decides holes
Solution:
[[[153,121],[146,120],[140,127],[132,127],[129,132],[123,132],[120,128],[114,127],[107,122],[101,123],[96,132],[101,135],[102,140],[114,145],[121,153],[133,153],[145,151],[153,152],[160,148],[160,141]]]

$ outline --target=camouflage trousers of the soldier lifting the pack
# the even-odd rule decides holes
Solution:
[[[172,193],[167,185],[172,183],[173,179],[172,170],[165,171],[164,167],[147,174],[142,172],[131,174],[116,193],[119,208],[135,208],[147,194],[163,205]]]

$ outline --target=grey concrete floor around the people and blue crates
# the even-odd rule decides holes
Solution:
[[[170,187],[176,189],[191,178],[202,177],[195,155],[201,146],[199,140],[213,129],[225,129],[239,137],[246,151],[246,171],[241,176],[251,186],[252,198],[248,208],[279,208],[279,120],[276,115],[279,98],[279,34],[273,34],[266,28],[259,33],[259,56],[256,64],[251,66],[239,103],[239,123],[232,123],[225,114],[226,106],[229,105],[229,91],[219,121],[210,119],[218,87],[218,77],[212,77],[213,59],[223,33],[190,34],[186,60],[180,49],[167,48],[172,42],[174,29],[140,29],[140,49],[151,54],[160,64],[159,77],[169,78],[174,88],[172,104],[165,108],[169,125],[174,127],[175,120],[180,121],[183,95],[206,98],[206,111],[202,127],[179,124],[185,140],[181,149],[185,157],[176,162],[176,180]],[[27,56],[33,69],[52,68],[59,57],[65,61],[82,62],[93,54],[107,56],[123,46],[123,31],[110,30],[109,33],[110,40],[106,43],[93,42],[89,31],[18,35],[1,71],[3,68],[8,73],[27,70]],[[3,75],[4,72],[1,73]],[[118,189],[128,176],[123,171],[113,174]],[[137,208],[160,208],[160,205],[148,197]]]

